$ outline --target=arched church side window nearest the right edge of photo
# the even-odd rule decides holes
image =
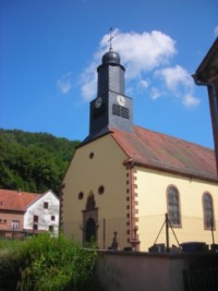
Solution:
[[[205,229],[214,229],[215,218],[214,218],[214,207],[213,197],[209,193],[204,193],[203,195],[203,215],[204,215],[204,227]]]

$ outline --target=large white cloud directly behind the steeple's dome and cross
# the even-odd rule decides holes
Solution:
[[[144,72],[169,63],[170,59],[177,53],[175,41],[161,32],[154,31],[138,34],[134,32],[121,33],[119,29],[114,29],[113,35],[116,37],[112,40],[112,47],[120,53],[122,64],[126,68],[126,80],[135,80],[142,76]],[[102,54],[109,49],[109,34],[102,37],[93,62],[82,73],[81,90],[83,98],[86,100],[90,100],[96,93],[96,68],[100,64]]]

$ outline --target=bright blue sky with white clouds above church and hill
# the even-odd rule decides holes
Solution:
[[[217,11],[217,0],[0,0],[0,128],[83,141],[113,27],[134,124],[214,148],[207,88],[192,74]]]

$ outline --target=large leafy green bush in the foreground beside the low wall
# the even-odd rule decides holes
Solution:
[[[96,289],[96,257],[95,248],[84,250],[63,235],[44,234],[4,245],[0,250],[0,291],[100,290]]]

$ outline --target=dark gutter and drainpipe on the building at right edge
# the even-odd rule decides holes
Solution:
[[[217,96],[218,88],[216,88],[215,78],[211,80],[210,82],[203,82],[201,81],[198,74],[193,74],[192,77],[194,78],[194,82],[196,85],[207,86],[207,89],[208,89],[209,107],[210,107],[211,124],[213,124],[213,132],[214,132],[214,142],[215,142],[217,177],[218,177],[218,96]]]

